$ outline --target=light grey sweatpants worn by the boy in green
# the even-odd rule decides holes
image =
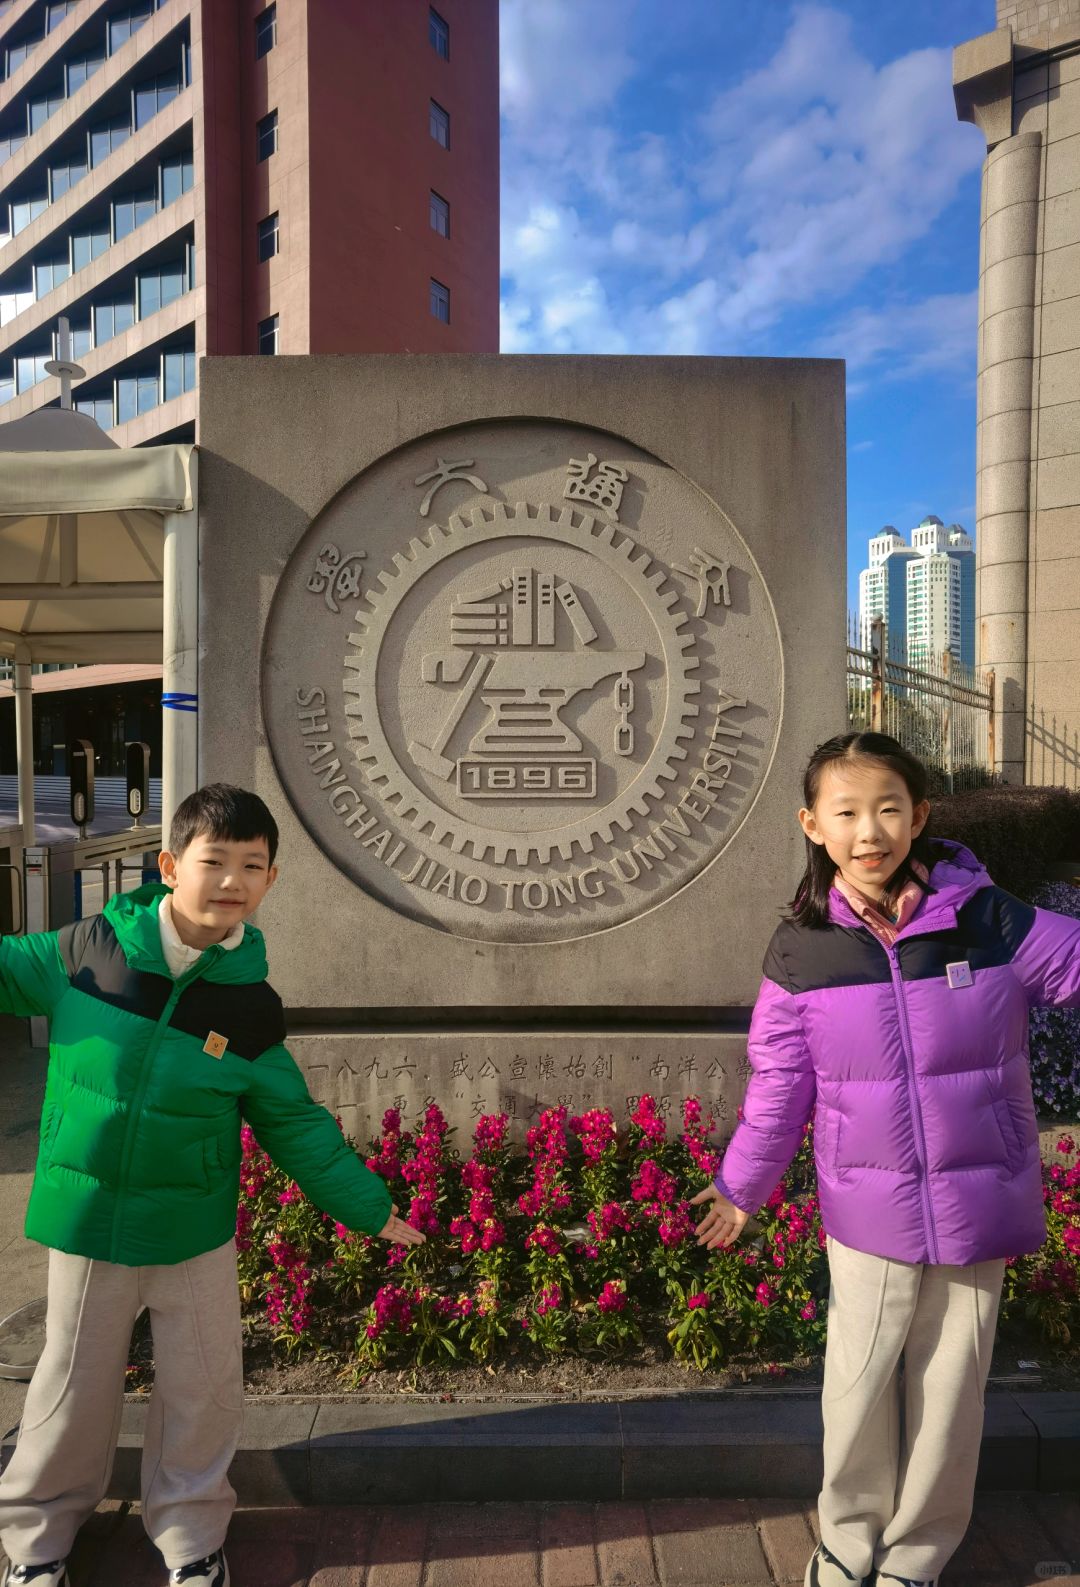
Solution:
[[[219,1549],[244,1417],[233,1243],[171,1266],[125,1268],[49,1252],[46,1344],[0,1477],[0,1543],[17,1565],[71,1550],[105,1498],[132,1327],[146,1306],[154,1392],[143,1443],[143,1525],[168,1570]]]

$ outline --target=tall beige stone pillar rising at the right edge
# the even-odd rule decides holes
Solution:
[[[999,0],[953,94],[986,138],[979,279],[977,659],[998,770],[1080,786],[1080,0]]]

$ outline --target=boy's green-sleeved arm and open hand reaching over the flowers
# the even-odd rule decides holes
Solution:
[[[423,1244],[423,1235],[396,1216],[385,1182],[312,1098],[287,1047],[268,1047],[254,1060],[241,1112],[262,1149],[335,1222],[396,1244]]]

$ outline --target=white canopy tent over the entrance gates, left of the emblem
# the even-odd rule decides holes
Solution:
[[[30,668],[162,662],[162,825],[197,786],[197,454],[122,449],[89,414],[0,425],[0,655],[14,660],[19,824],[33,844]]]

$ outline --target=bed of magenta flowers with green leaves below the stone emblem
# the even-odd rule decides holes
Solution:
[[[625,1358],[658,1328],[671,1357],[699,1371],[815,1358],[828,1263],[810,1128],[742,1241],[706,1252],[690,1197],[715,1173],[712,1130],[696,1098],[672,1132],[642,1097],[622,1132],[607,1111],[552,1108],[527,1154],[509,1146],[506,1116],[485,1116],[461,1157],[438,1106],[414,1135],[390,1109],[368,1166],[427,1233],[420,1247],[335,1225],[244,1130],[246,1322],[268,1325],[282,1358],[335,1358],[352,1387],[384,1366],[490,1363],[522,1349]],[[1063,1155],[1072,1151],[1063,1138]],[[1047,1166],[1044,1197],[1048,1238],[1010,1262],[1002,1324],[1067,1346],[1080,1325],[1080,1165]]]

